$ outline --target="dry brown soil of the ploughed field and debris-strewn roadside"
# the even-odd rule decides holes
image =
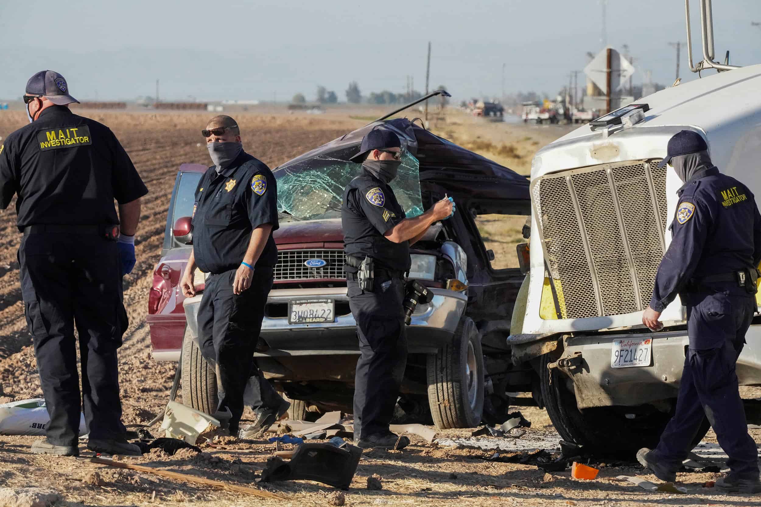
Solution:
[[[125,303],[130,327],[120,350],[124,421],[145,423],[163,409],[174,376],[174,364],[151,360],[148,326],[145,324],[151,270],[161,250],[164,220],[177,167],[183,162],[208,163],[199,135],[209,115],[92,112],[109,125],[132,157],[150,194],[143,201],[142,223],[137,239],[138,264],[126,277]],[[270,166],[325,141],[364,125],[348,115],[292,116],[241,114],[247,150]],[[23,112],[0,114],[0,136],[24,125]],[[562,135],[567,128],[492,124],[465,115],[450,115],[433,122],[435,132],[492,157],[521,173],[530,168],[534,151]],[[0,140],[2,143],[2,140]],[[0,213],[0,403],[41,395],[33,350],[25,322],[18,283],[16,249],[21,239],[14,227],[12,208]],[[485,225],[489,233],[500,230]],[[516,226],[517,227],[517,226]],[[503,247],[506,248],[506,247]],[[505,250],[507,251],[507,250]],[[533,426],[522,439],[502,439],[505,448],[549,448],[558,436],[543,410],[524,409]],[[753,430],[761,442],[759,430]],[[158,436],[158,431],[154,430]],[[441,433],[441,438],[463,438],[470,430]],[[30,444],[37,437],[0,436],[0,486],[44,486],[62,495],[59,505],[326,505],[333,488],[308,481],[276,483],[269,490],[282,493],[282,502],[262,500],[239,493],[211,490],[189,483],[165,480],[103,468],[89,461],[82,447],[81,458],[32,455]],[[494,439],[492,439],[494,440]],[[708,437],[711,440],[711,437]],[[486,439],[488,442],[489,439]],[[715,440],[713,440],[715,442]],[[486,443],[486,442],[484,442]],[[228,483],[253,484],[272,452],[266,440],[220,442],[204,446],[208,454],[170,457],[153,452],[123,461],[182,471]],[[492,451],[431,446],[412,436],[403,452],[368,451],[359,464],[346,505],[761,505],[747,496],[715,496],[702,488],[715,474],[682,474],[689,493],[648,493],[630,483],[614,480],[621,474],[642,472],[632,464],[603,467],[600,478],[581,482],[570,472],[545,477],[536,467],[486,461]],[[87,478],[98,469],[100,485]],[[383,490],[366,489],[371,474],[383,477]],[[648,476],[648,479],[655,480]],[[91,481],[90,481],[91,482]]]

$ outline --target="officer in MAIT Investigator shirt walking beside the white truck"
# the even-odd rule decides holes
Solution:
[[[679,294],[687,310],[689,350],[676,414],[658,447],[641,449],[637,458],[659,479],[675,480],[705,416],[729,456],[730,473],[716,487],[759,493],[758,453],[748,435],[735,364],[756,311],[761,215],[747,186],[711,163],[697,132],[683,130],[670,139],[659,166],[667,163],[684,185],[642,322],[653,331],[663,328],[658,318]]]

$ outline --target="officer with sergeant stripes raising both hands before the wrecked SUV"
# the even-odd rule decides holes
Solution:
[[[389,183],[401,165],[401,143],[393,132],[374,128],[362,139],[352,161],[359,176],[343,192],[341,222],[346,255],[349,307],[357,322],[360,356],[354,391],[354,439],[360,447],[403,448],[406,436],[390,432],[407,360],[404,328],[404,276],[409,246],[432,223],[450,217],[454,204],[438,201],[419,217],[406,218]],[[372,259],[372,290],[362,290],[360,264]]]

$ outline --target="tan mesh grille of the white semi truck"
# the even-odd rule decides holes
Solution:
[[[531,183],[562,318],[647,308],[664,254],[666,169],[631,160]]]

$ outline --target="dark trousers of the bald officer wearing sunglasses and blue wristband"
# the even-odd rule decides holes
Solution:
[[[272,268],[254,268],[251,286],[233,293],[235,271],[210,274],[198,311],[199,347],[205,360],[218,366],[218,410],[230,409],[231,429],[244,410],[244,392],[251,378],[254,410],[279,407],[282,398],[256,367],[253,353],[259,341],[264,306],[272,288]]]

